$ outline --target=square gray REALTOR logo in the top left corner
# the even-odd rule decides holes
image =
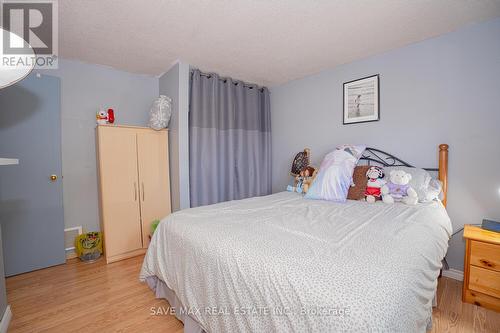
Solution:
[[[57,1],[4,0],[1,12],[2,65],[57,68]]]

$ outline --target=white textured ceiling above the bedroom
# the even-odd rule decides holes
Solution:
[[[272,86],[495,16],[500,0],[62,0],[59,53]]]

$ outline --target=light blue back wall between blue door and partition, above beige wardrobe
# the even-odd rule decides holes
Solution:
[[[61,78],[65,226],[99,230],[95,113],[111,107],[117,124],[145,126],[158,78],[69,60],[41,72]]]

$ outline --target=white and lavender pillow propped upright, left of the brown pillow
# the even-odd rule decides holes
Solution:
[[[328,153],[319,167],[307,199],[345,202],[356,163],[365,150],[362,145],[342,145]]]

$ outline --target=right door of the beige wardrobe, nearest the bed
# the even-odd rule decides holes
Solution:
[[[168,132],[137,133],[143,246],[149,245],[151,222],[170,214]]]

